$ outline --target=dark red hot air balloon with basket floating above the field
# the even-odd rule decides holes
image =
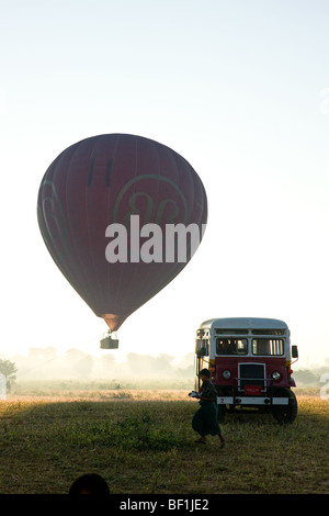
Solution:
[[[189,262],[202,239],[207,200],[200,177],[174,150],[141,136],[104,134],[71,145],[52,162],[37,217],[54,261],[105,321],[111,339]],[[192,226],[200,239],[193,244],[186,234],[188,256],[179,259],[166,232]]]

